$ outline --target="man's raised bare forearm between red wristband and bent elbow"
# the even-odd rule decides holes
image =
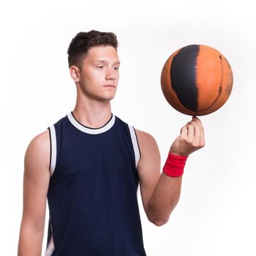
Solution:
[[[164,225],[176,207],[181,195],[182,176],[170,177],[165,173],[159,178],[148,202],[147,216],[155,225]]]

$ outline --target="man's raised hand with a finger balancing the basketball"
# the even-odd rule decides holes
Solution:
[[[170,146],[170,153],[188,156],[203,146],[205,146],[203,125],[199,118],[193,116],[192,120],[181,128],[181,134]]]

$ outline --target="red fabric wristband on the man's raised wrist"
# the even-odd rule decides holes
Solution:
[[[162,170],[167,176],[182,176],[186,161],[187,157],[176,156],[175,154],[169,153]]]

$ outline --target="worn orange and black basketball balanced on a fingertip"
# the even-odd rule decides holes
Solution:
[[[233,72],[218,50],[187,45],[165,62],[161,86],[173,108],[189,116],[204,116],[221,108],[230,97]]]

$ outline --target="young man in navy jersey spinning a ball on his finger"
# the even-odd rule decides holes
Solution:
[[[170,146],[160,172],[157,143],[113,116],[118,86],[116,35],[80,32],[69,45],[75,109],[29,144],[18,256],[39,256],[50,211],[49,256],[143,256],[138,183],[150,222],[164,225],[178,203],[187,156],[204,146],[193,117]]]

